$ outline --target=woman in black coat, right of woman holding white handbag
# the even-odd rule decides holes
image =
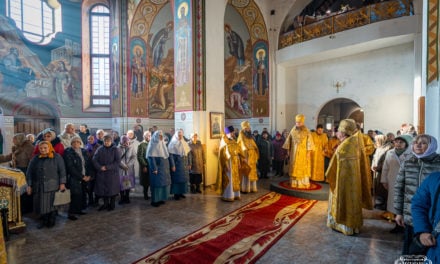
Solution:
[[[77,220],[75,214],[84,215],[84,192],[86,184],[90,181],[89,156],[83,149],[81,137],[74,136],[70,141],[70,147],[64,151],[64,163],[66,165],[67,184],[70,189],[69,219]]]

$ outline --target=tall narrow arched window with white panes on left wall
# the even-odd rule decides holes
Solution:
[[[110,12],[104,5],[90,10],[91,106],[110,105]]]

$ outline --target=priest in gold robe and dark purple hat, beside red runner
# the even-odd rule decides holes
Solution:
[[[217,192],[223,201],[233,202],[240,200],[240,172],[241,160],[244,155],[235,141],[234,127],[225,128],[225,134],[220,141],[218,153]]]

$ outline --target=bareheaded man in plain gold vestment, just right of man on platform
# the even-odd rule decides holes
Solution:
[[[315,150],[312,152],[312,177],[313,181],[324,181],[324,160],[328,148],[328,137],[324,133],[321,124],[316,126],[316,131],[312,132]]]

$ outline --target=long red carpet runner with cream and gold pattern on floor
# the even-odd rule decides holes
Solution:
[[[315,203],[270,192],[134,263],[254,263]]]

